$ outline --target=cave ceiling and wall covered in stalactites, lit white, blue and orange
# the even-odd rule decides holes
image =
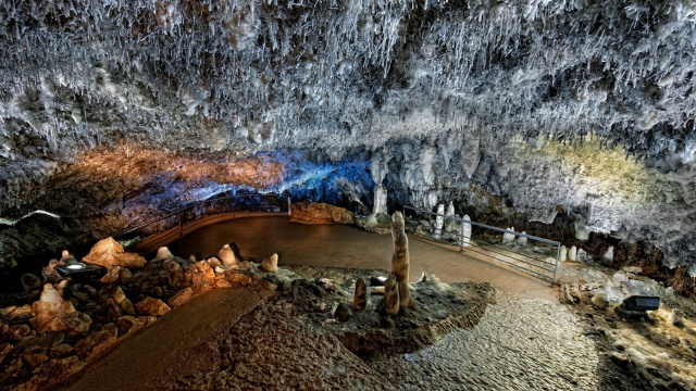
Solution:
[[[369,207],[372,180],[393,205],[558,206],[694,274],[695,22],[680,0],[5,1],[0,217],[62,218],[1,225],[0,264],[142,205],[303,184]],[[237,160],[285,176],[220,179]]]

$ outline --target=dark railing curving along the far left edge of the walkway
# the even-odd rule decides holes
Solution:
[[[204,216],[223,213],[232,213],[233,217],[235,217],[235,214],[240,212],[275,212],[278,214],[289,214],[290,198],[277,193],[251,193],[208,199],[182,207],[145,224],[137,225],[136,227],[126,228],[123,232],[119,234],[116,238],[127,241],[128,239],[152,236],[174,227],[178,227],[178,235],[183,236],[186,223]]]

